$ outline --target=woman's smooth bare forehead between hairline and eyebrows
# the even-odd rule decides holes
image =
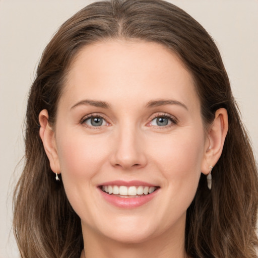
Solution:
[[[66,102],[101,99],[123,103],[172,98],[199,106],[193,80],[176,54],[154,42],[113,40],[82,48],[74,59]]]

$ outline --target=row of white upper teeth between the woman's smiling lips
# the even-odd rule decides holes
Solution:
[[[124,186],[124,185],[102,185],[100,189],[109,195],[121,198],[137,198],[150,195],[158,186]]]

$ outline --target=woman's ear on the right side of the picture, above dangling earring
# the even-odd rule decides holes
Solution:
[[[215,113],[213,123],[209,127],[207,141],[206,141],[206,152],[202,162],[201,171],[204,174],[209,174],[211,171],[210,166],[214,167],[218,162],[225,138],[228,132],[228,113],[225,108],[220,108]]]

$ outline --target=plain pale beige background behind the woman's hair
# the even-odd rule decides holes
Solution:
[[[12,192],[22,170],[23,119],[36,64],[57,28],[92,2],[0,0],[0,258],[19,257],[11,228]],[[258,157],[258,1],[170,2],[215,39]]]

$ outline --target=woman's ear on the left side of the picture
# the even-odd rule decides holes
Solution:
[[[46,152],[46,155],[49,159],[51,170],[54,173],[60,173],[60,164],[57,155],[55,135],[52,127],[48,122],[48,112],[46,109],[42,110],[39,113],[39,123],[40,130],[39,136],[43,142],[43,146]]]

